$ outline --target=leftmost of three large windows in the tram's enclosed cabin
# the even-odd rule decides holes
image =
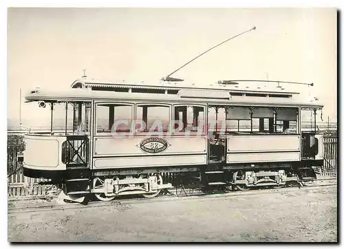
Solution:
[[[132,122],[132,106],[98,104],[96,107],[97,133],[116,131],[129,132]]]

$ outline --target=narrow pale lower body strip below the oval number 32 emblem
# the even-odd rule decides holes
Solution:
[[[206,164],[204,155],[153,155],[120,158],[94,158],[94,169],[119,169],[147,166],[183,166]]]

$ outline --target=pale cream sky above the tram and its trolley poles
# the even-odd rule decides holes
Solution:
[[[159,83],[256,26],[173,77],[197,86],[238,79],[314,83],[324,119],[335,121],[336,23],[334,8],[9,8],[8,118],[19,119],[19,89],[23,96],[38,86],[65,89],[83,69],[90,78]],[[48,119],[49,110],[23,104],[21,116]]]

